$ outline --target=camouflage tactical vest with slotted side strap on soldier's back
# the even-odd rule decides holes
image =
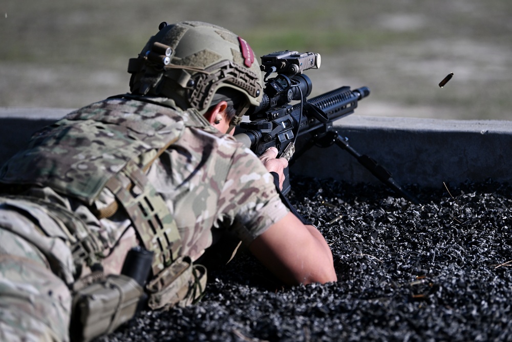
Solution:
[[[146,288],[155,294],[150,306],[162,308],[176,297],[176,268],[191,263],[178,258],[176,222],[145,173],[187,126],[215,131],[195,110],[178,111],[129,96],[107,99],[34,134],[28,148],[4,165],[0,182],[50,187],[86,203],[98,218],[122,208],[144,247],[154,251],[154,279]],[[105,188],[116,201],[95,208]]]

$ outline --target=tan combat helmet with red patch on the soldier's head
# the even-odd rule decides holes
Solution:
[[[258,106],[263,95],[260,65],[249,44],[206,22],[162,22],[139,57],[130,59],[128,72],[132,94],[173,99],[200,113],[221,87],[242,93],[247,108]]]

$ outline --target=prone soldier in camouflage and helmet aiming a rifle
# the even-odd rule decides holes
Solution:
[[[42,129],[0,171],[2,340],[90,340],[138,303],[193,303],[224,242],[286,284],[336,281],[325,239],[269,173],[282,185],[287,162],[231,136],[262,96],[249,44],[162,23],[128,71],[130,93]]]

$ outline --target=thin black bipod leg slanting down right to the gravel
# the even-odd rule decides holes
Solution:
[[[360,154],[356,150],[354,150],[348,143],[347,139],[343,138],[338,134],[337,131],[330,131],[330,134],[324,137],[327,139],[326,143],[334,142],[339,147],[343,148],[347,152],[349,152],[353,157],[357,159],[359,164],[364,166],[368,171],[370,171],[378,180],[382,183],[386,184],[389,188],[394,190],[399,195],[403,196],[403,198],[411,201],[414,204],[419,204],[418,199],[411,195],[407,190],[403,189],[396,181],[391,177],[391,173],[377,164],[371,157],[366,154]],[[332,135],[331,135],[332,134]]]

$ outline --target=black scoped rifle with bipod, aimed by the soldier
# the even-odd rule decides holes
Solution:
[[[261,57],[261,70],[265,72],[263,100],[249,112],[249,121],[237,127],[234,136],[249,147],[256,155],[261,155],[269,147],[278,149],[278,157],[288,161],[302,155],[313,145],[328,147],[336,144],[349,152],[377,179],[407,200],[418,204],[418,200],[404,190],[391,177],[391,173],[377,164],[371,157],[360,154],[335,129],[333,122],[354,112],[358,101],[370,95],[368,87],[352,90],[342,86],[325,94],[307,100],[311,94],[311,79],[303,72],[318,69],[321,57],[317,53],[278,51]],[[269,78],[272,73],[277,76]],[[290,104],[293,100],[300,101]],[[295,153],[296,140],[306,135],[309,139],[302,150]],[[290,191],[289,170],[285,169],[283,194]]]

